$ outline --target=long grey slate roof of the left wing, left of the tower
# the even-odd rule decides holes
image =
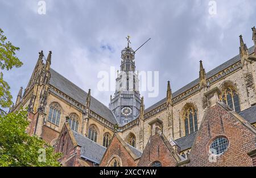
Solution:
[[[57,73],[53,69],[51,69],[50,72],[51,78],[49,84],[85,106],[87,93],[84,90],[73,84],[73,82],[69,81],[67,78],[63,77],[61,74]],[[66,100],[65,98],[63,99]],[[107,119],[110,123],[117,123],[117,120],[115,119],[112,111],[92,96],[90,99],[90,110]]]

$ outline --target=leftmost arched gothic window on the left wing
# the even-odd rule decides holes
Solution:
[[[60,125],[60,105],[53,103],[49,107],[48,121],[56,126]]]

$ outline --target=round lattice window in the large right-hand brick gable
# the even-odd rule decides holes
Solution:
[[[210,144],[210,152],[214,155],[221,155],[226,151],[229,146],[228,139],[220,137],[215,139],[212,144]]]

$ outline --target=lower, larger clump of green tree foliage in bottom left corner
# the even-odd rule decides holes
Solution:
[[[0,116],[0,166],[60,166],[60,153],[26,133],[27,111]]]

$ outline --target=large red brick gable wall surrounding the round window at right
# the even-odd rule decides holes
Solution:
[[[216,157],[216,161],[209,161],[210,144],[218,136],[226,137],[229,146],[222,155]],[[252,166],[252,159],[247,154],[253,150],[255,134],[217,104],[207,110],[189,155],[188,166]]]

